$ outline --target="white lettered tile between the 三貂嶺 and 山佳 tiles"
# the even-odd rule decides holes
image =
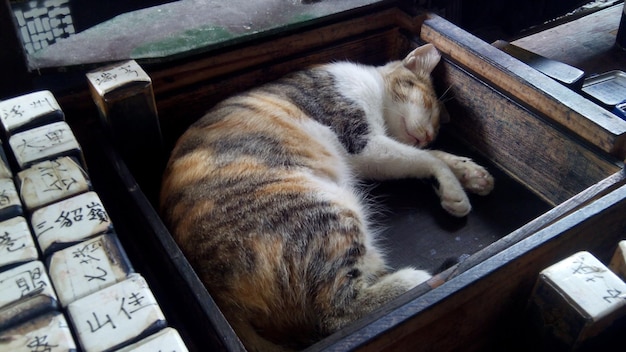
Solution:
[[[52,254],[48,265],[62,306],[128,278],[132,267],[117,236],[101,235]]]

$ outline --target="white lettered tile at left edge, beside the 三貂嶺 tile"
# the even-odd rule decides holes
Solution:
[[[0,222],[0,268],[37,259],[39,253],[26,219]]]

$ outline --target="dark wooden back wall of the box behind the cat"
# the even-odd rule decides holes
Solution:
[[[168,63],[140,64],[152,79],[162,127],[167,131],[169,119],[182,118],[176,124],[183,125],[230,94],[313,63],[339,59],[382,63],[399,58],[409,49],[407,36],[400,32],[418,33],[422,19],[390,7],[347,20],[330,18],[297,32],[268,35]],[[395,31],[394,35],[389,36],[388,31]],[[377,36],[382,37],[372,39]],[[224,83],[253,70],[256,76],[250,75],[248,81]],[[55,96],[68,118],[97,114],[86,85],[84,90],[59,92]]]

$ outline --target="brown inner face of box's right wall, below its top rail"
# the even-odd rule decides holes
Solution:
[[[444,128],[552,205],[621,169],[452,63],[435,77],[451,97]]]

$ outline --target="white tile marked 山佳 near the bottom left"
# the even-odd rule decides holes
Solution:
[[[85,352],[131,343],[166,326],[165,316],[139,274],[67,306]]]

